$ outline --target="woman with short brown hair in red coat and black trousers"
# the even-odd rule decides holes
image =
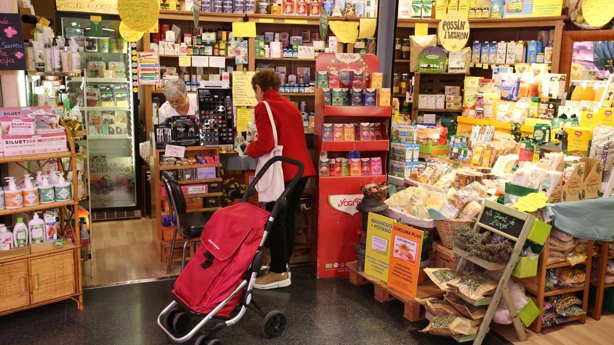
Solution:
[[[315,176],[311,156],[307,150],[303,120],[298,108],[287,98],[279,95],[279,76],[270,70],[260,71],[252,78],[258,105],[255,109],[256,129],[258,139],[249,143],[245,153],[251,157],[260,157],[271,152],[274,146],[273,127],[266,112],[266,101],[271,107],[273,120],[277,128],[278,145],[284,147],[282,155],[301,161],[305,166],[303,176],[288,196],[288,207],[279,210],[273,228],[268,235],[271,247],[271,263],[266,273],[256,279],[256,289],[275,289],[290,285],[290,271],[288,262],[294,249],[295,219],[298,211],[298,201],[309,176]],[[282,163],[284,182],[287,183],[297,173],[298,168],[287,163]],[[266,209],[271,211],[274,203],[266,203]]]

